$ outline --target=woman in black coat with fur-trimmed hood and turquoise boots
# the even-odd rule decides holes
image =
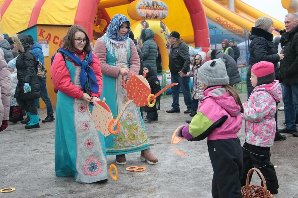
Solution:
[[[26,34],[13,35],[13,42],[20,52],[15,63],[18,70],[18,85],[14,97],[30,117],[25,128],[39,128],[39,117],[34,102],[34,99],[40,98],[36,60],[30,48],[29,37]]]

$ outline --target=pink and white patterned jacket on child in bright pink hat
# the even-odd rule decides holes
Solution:
[[[276,102],[282,98],[280,83],[262,84],[252,91],[247,103],[243,104],[245,133],[248,144],[259,147],[271,147],[275,136]]]

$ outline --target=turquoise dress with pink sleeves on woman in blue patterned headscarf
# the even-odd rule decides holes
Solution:
[[[97,40],[97,43],[94,45],[94,54],[99,56],[101,60],[102,72],[103,67],[127,67],[133,74],[139,73],[139,64],[137,66],[129,64],[131,56],[137,56],[139,59],[136,50],[134,54],[131,54],[132,41],[130,41],[131,39],[128,39],[125,43],[119,44],[126,45],[125,50],[122,48],[122,50],[119,49],[117,51],[116,45],[116,49],[113,52],[109,52],[106,35]],[[135,48],[135,46],[133,47]],[[106,62],[103,63],[103,60],[106,60]],[[132,67],[135,68],[133,69]],[[114,118],[117,117],[125,103],[129,100],[122,84],[122,76],[118,74],[116,76],[109,76],[108,71],[103,72],[103,92],[100,98],[101,100],[106,98],[105,102],[111,109]],[[105,137],[107,155],[128,154],[150,148],[149,139],[138,106],[130,103],[120,119],[120,124],[121,129],[117,134],[110,134]]]

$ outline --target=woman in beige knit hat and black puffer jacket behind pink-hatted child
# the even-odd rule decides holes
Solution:
[[[277,79],[278,73],[278,62],[283,59],[283,54],[278,54],[277,49],[272,43],[273,40],[273,21],[268,17],[260,17],[254,23],[255,27],[252,27],[252,34],[249,36],[251,43],[249,45],[249,64],[250,67],[247,71],[246,85],[247,85],[247,100],[250,97],[254,87],[250,82],[251,68],[252,66],[260,61],[272,62],[274,65],[275,79]],[[277,104],[276,104],[277,107]],[[277,131],[277,111],[274,116],[276,122],[276,133],[274,141],[287,139],[285,135],[281,135]]]

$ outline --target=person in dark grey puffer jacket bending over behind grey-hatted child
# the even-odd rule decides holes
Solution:
[[[234,84],[240,83],[240,74],[238,70],[237,63],[235,60],[228,54],[221,53],[220,51],[214,49],[211,52],[208,52],[207,56],[213,59],[224,59],[226,64],[226,73],[229,76],[229,85],[233,86]]]

